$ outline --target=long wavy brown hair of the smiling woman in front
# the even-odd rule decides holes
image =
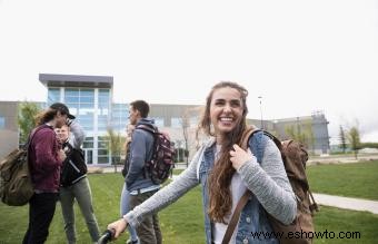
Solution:
[[[247,96],[248,90],[242,86],[231,81],[220,81],[215,85],[206,99],[206,108],[202,118],[199,123],[197,130],[197,139],[199,131],[202,130],[208,136],[217,136],[212,130],[210,120],[210,105],[213,92],[219,88],[230,87],[237,89],[240,94],[242,101],[242,116],[239,120],[239,125],[225,136],[225,140],[221,145],[221,152],[218,160],[215,162],[215,166],[208,177],[208,193],[209,193],[209,207],[208,214],[213,222],[226,223],[225,217],[230,214],[232,206],[232,197],[230,192],[230,184],[235,168],[232,167],[229,152],[233,144],[238,144],[241,139],[242,133],[247,128],[246,116],[248,114]]]

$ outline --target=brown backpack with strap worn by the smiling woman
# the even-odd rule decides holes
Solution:
[[[306,176],[306,163],[308,160],[308,153],[306,148],[302,144],[295,140],[280,141],[270,133],[257,129],[255,127],[249,127],[243,133],[242,139],[239,144],[241,148],[247,149],[248,139],[257,131],[263,131],[265,135],[267,135],[275,141],[275,144],[281,152],[285,170],[288,175],[292,191],[297,198],[297,216],[291,224],[285,225],[280,221],[268,214],[269,223],[275,233],[284,233],[282,238],[279,238],[279,243],[281,244],[312,243],[315,232],[312,216],[314,212],[318,211],[318,205],[316,204],[314,196],[309,189],[309,184]],[[251,193],[247,191],[240,198],[228,225],[222,243],[229,242],[236,224],[239,219],[240,212],[247,204],[250,194]]]

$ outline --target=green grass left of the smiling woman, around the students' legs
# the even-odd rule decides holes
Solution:
[[[123,184],[118,174],[93,174],[89,176],[94,214],[101,232],[107,225],[119,218],[119,199]],[[76,204],[78,244],[91,243],[87,226]],[[0,244],[21,243],[28,224],[28,205],[9,207],[0,203]],[[159,212],[163,243],[205,243],[203,214],[200,188],[196,187],[170,207]],[[50,225],[47,244],[66,243],[60,204]],[[125,243],[128,234],[112,243]]]

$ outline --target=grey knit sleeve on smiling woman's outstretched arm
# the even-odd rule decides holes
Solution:
[[[168,205],[175,203],[189,189],[199,184],[197,178],[197,164],[203,153],[199,149],[191,159],[189,167],[183,170],[173,182],[153,194],[142,204],[136,206],[132,211],[123,216],[123,218],[133,227],[138,226],[146,215],[158,212]]]

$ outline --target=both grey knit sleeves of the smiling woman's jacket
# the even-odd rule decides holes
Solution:
[[[197,152],[189,167],[177,179],[126,214],[123,216],[126,221],[130,225],[137,226],[141,223],[143,216],[170,205],[198,185],[198,164],[205,148],[212,143],[213,140],[209,141]],[[286,175],[279,149],[273,141],[268,140],[261,165],[256,160],[247,162],[236,174],[240,174],[243,183],[269,214],[284,224],[294,221],[297,213],[295,194]]]

